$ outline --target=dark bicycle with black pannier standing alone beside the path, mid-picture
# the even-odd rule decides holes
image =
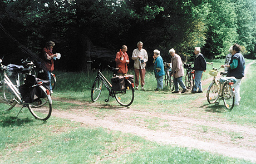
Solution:
[[[120,103],[122,106],[130,106],[134,101],[134,82],[133,82],[133,75],[127,76],[117,76],[118,68],[110,67],[111,71],[113,72],[113,79],[119,79],[116,81],[115,84],[111,84],[107,81],[106,77],[100,72],[101,64],[97,63],[96,61],[88,61],[92,65],[97,66],[97,76],[95,81],[93,82],[92,89],[91,89],[91,100],[95,102],[99,99],[101,95],[102,88],[105,87],[109,91],[109,97],[105,100],[105,102],[109,101],[110,97],[115,97],[116,101]],[[113,83],[112,81],[112,83]],[[120,82],[122,81],[122,82]]]

